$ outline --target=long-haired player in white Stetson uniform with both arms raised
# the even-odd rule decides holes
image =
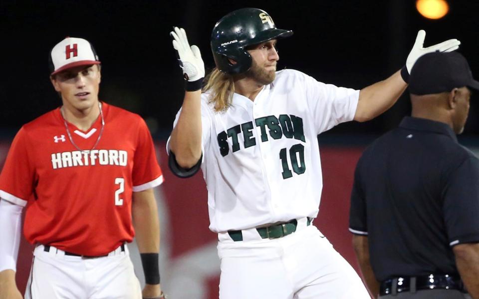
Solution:
[[[370,298],[353,268],[311,225],[322,189],[317,135],[378,116],[406,89],[420,55],[451,51],[460,42],[423,48],[420,31],[402,71],[354,90],[296,70],[276,71],[276,42],[291,34],[260,9],[227,14],[213,29],[216,68],[202,92],[200,50],[190,47],[184,29],[174,28],[186,93],[167,145],[170,168],[181,177],[203,170],[210,229],[219,238],[221,299]]]

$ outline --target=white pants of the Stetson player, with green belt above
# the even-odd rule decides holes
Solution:
[[[220,299],[370,299],[354,269],[305,219],[296,232],[261,239],[243,230],[243,241],[219,234]]]

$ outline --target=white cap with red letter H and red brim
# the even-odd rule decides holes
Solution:
[[[83,38],[67,36],[50,51],[51,75],[70,67],[99,63],[95,49]]]

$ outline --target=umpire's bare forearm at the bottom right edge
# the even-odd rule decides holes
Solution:
[[[461,279],[469,295],[479,299],[479,243],[458,244],[453,247]]]

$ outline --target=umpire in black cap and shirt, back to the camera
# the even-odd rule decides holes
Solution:
[[[460,53],[420,57],[412,116],[359,159],[349,230],[374,298],[479,299],[479,160],[456,138],[470,88]]]

